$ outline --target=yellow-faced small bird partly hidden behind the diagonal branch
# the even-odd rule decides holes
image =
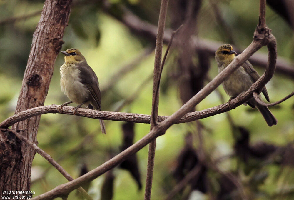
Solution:
[[[223,71],[223,69],[235,59],[235,54],[237,53],[233,51],[233,47],[230,44],[224,44],[218,48],[215,56],[216,63],[218,64],[218,73]],[[223,88],[232,99],[237,97],[240,93],[247,91],[259,78],[260,76],[257,71],[247,60],[236,69],[233,74],[223,81]],[[270,101],[265,86],[262,89],[262,93],[265,96],[265,99]],[[258,98],[262,100],[260,94],[258,95]],[[246,103],[253,109],[257,107],[268,126],[277,124],[277,119],[273,116],[267,106],[258,104],[254,98],[249,99]],[[246,103],[244,105],[247,105]]]

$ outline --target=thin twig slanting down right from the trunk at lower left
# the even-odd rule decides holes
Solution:
[[[36,144],[32,143],[28,139],[26,139],[24,136],[19,134],[18,132],[12,130],[12,129],[1,129],[1,131],[9,131],[13,133],[18,139],[23,141],[26,145],[34,149],[38,154],[40,154],[43,158],[45,158],[52,166],[54,166],[68,181],[74,180],[65,169],[63,169],[62,166],[60,166],[49,154],[47,154],[44,150],[39,148]],[[78,191],[83,195],[84,198],[88,200],[93,200],[92,197],[82,188],[78,187]]]

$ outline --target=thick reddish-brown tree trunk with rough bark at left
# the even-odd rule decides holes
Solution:
[[[71,0],[46,0],[40,21],[33,35],[31,52],[24,73],[16,113],[44,105],[54,62],[64,43],[64,29],[69,20]],[[17,49],[15,50],[17,51]],[[40,116],[16,123],[29,141],[37,143]],[[0,131],[0,196],[2,191],[29,191],[31,164],[35,152],[9,133]],[[24,194],[24,196],[28,196]]]

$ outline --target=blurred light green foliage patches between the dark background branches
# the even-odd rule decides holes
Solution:
[[[157,24],[160,5],[158,0],[111,0],[110,2],[112,4],[123,4],[141,19]],[[43,1],[0,1],[0,22],[7,18],[23,16],[41,10],[42,6]],[[236,44],[240,49],[244,49],[252,41],[258,21],[258,1],[219,1],[218,6],[224,20],[232,28],[231,34],[236,39]],[[172,14],[168,13],[167,27],[170,24]],[[266,16],[267,25],[272,29],[277,39],[278,55],[293,61],[293,30],[268,7]],[[39,17],[40,14],[15,22],[0,23],[0,121],[14,114],[30,51],[32,34]],[[226,43],[227,38],[219,29],[208,0],[203,1],[199,11],[197,31],[201,38]],[[148,39],[142,39],[142,36],[133,34],[121,22],[105,14],[99,3],[82,0],[74,1],[69,26],[66,27],[63,40],[65,41],[63,51],[72,47],[80,49],[88,64],[96,72],[101,90],[110,81],[111,75],[119,70],[123,64],[132,61],[144,47],[153,44]],[[266,53],[266,48],[260,51]],[[153,55],[154,53],[151,53],[147,56],[136,69],[117,81],[115,86],[107,91],[105,96],[102,96],[103,110],[115,110],[124,99],[136,91],[149,74],[153,73]],[[55,62],[54,75],[45,105],[62,104],[67,101],[59,86],[59,66],[63,62],[63,56],[59,55]],[[165,92],[160,95],[159,115],[171,115],[181,106],[178,99],[177,84],[167,80],[171,64],[170,61],[167,61],[163,70],[161,84],[164,85]],[[259,74],[263,73],[263,69],[257,70]],[[214,77],[216,74],[217,67],[212,57],[209,76]],[[293,90],[294,83],[290,77],[276,73],[266,86],[271,101],[277,101]],[[228,99],[221,86],[219,89],[225,99]],[[152,83],[150,81],[142,88],[140,95],[121,111],[150,114],[151,99]],[[220,103],[222,102],[218,94],[213,92],[197,106],[197,109],[206,109]],[[294,137],[293,104],[294,101],[291,98],[279,106],[271,108],[278,119],[278,125],[273,127],[268,127],[257,111],[250,110],[245,106],[230,111],[230,114],[237,125],[244,126],[249,130],[250,142],[265,141],[284,146]],[[203,130],[206,152],[213,158],[232,154],[234,139],[226,114],[219,114],[200,121],[204,127],[207,127]],[[86,164],[88,169],[91,170],[109,159],[110,155],[119,153],[122,124],[123,122],[106,121],[107,134],[103,135],[100,133],[98,121],[94,119],[62,114],[42,115],[38,132],[38,146],[49,153],[69,174],[76,178],[83,164]],[[176,165],[176,157],[184,146],[184,135],[191,130],[196,131],[196,127],[177,124],[168,129],[164,136],[156,140],[152,199],[163,199],[176,184],[171,174]],[[149,132],[149,125],[136,124],[135,132],[135,141],[137,141]],[[148,147],[144,147],[137,153],[143,185],[145,185],[146,178],[147,155]],[[226,159],[220,164],[220,167],[223,170],[241,170],[238,169],[236,162],[235,158]],[[262,183],[258,184],[258,192],[254,194],[256,199],[269,199],[270,195],[282,194],[283,190],[292,190],[292,193],[289,192],[283,197],[277,195],[275,199],[293,199],[293,167],[269,165],[260,168],[260,170],[267,172],[268,176]],[[44,172],[46,174],[43,176]],[[135,181],[127,171],[115,168],[113,174],[115,176],[114,200],[143,199],[144,191],[138,191]],[[215,175],[215,172],[209,172],[211,185],[217,191],[219,188],[216,181],[218,175]],[[35,180],[39,176],[43,176],[42,179]],[[246,182],[249,177],[250,175],[244,174],[242,178]],[[89,194],[94,199],[100,199],[103,179],[104,175],[91,183]],[[31,190],[39,195],[67,180],[47,161],[36,154],[33,161],[32,181]],[[245,187],[249,189],[250,184],[245,185]],[[253,192],[255,191],[251,190],[251,193]],[[197,197],[197,194],[195,195]],[[72,192],[69,199],[75,198],[75,193]],[[176,198],[180,199],[180,196]]]

